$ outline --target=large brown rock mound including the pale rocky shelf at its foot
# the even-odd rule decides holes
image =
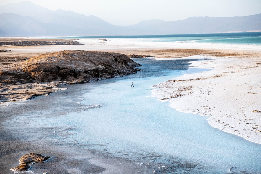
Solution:
[[[124,54],[96,51],[59,51],[20,63],[0,66],[0,102],[26,100],[57,91],[57,84],[134,74],[141,66]],[[56,88],[54,88],[56,87]]]

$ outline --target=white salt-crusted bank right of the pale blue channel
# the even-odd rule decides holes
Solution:
[[[177,111],[210,116],[211,126],[261,144],[261,58],[189,58],[205,59],[190,62],[183,76],[153,86],[153,96]]]

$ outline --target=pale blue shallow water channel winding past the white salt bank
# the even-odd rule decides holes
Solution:
[[[261,173],[261,144],[215,129],[207,117],[177,112],[168,102],[150,97],[152,85],[191,71],[187,62],[135,61],[144,71],[85,84],[85,93],[75,101],[94,108],[31,125],[61,127],[67,133],[54,134],[52,141],[161,164],[156,169],[163,173],[230,173],[230,168],[235,173]]]

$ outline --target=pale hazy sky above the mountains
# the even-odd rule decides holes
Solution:
[[[0,5],[23,0],[0,0]],[[142,20],[182,20],[192,16],[232,17],[261,13],[261,0],[30,0],[50,10],[97,16],[113,25]],[[0,12],[1,13],[1,12]]]

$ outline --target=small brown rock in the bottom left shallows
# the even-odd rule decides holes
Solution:
[[[38,153],[29,153],[23,155],[19,160],[20,161],[19,166],[11,168],[11,170],[15,172],[25,172],[31,167],[32,164],[36,162],[44,162],[49,158],[50,156],[42,156],[41,154]]]

